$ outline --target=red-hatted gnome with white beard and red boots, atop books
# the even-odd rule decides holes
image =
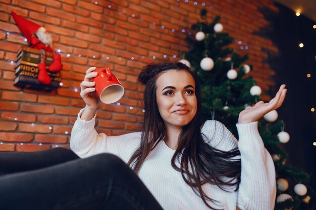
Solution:
[[[30,44],[31,48],[39,49],[41,52],[54,52],[52,49],[52,40],[51,35],[48,34],[44,27],[37,25],[34,22],[26,20],[25,18],[17,15],[15,12],[12,12],[12,16],[17,23],[22,34],[27,39],[27,42]],[[53,62],[48,66],[50,72],[59,72],[62,69],[61,55],[54,53]],[[46,72],[46,63],[44,60],[38,64],[38,81],[44,85],[49,85],[51,79]]]

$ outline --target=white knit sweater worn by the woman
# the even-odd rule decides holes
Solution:
[[[71,133],[71,149],[81,158],[99,153],[111,153],[128,162],[140,144],[141,132],[119,136],[107,136],[94,129],[95,116],[86,122],[80,118],[74,124]],[[219,205],[208,202],[215,208],[227,210],[253,209],[269,210],[274,208],[276,196],[275,168],[271,155],[265,149],[257,130],[257,122],[237,124],[239,141],[220,122],[208,120],[201,132],[210,139],[209,144],[220,150],[229,151],[235,147],[241,154],[241,182],[239,190],[227,187],[229,192],[218,186],[204,184],[204,192],[219,201]],[[143,163],[138,175],[157,201],[166,210],[202,210],[209,209],[202,199],[188,186],[181,173],[171,166],[174,150],[164,141],[154,148]]]

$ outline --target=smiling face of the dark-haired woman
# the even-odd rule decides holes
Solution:
[[[197,107],[193,77],[183,70],[163,72],[156,80],[156,101],[166,127],[187,125]]]

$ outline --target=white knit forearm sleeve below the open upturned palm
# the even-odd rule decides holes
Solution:
[[[237,124],[241,156],[241,181],[237,206],[241,209],[274,209],[276,175],[271,155],[257,129],[257,122]]]

